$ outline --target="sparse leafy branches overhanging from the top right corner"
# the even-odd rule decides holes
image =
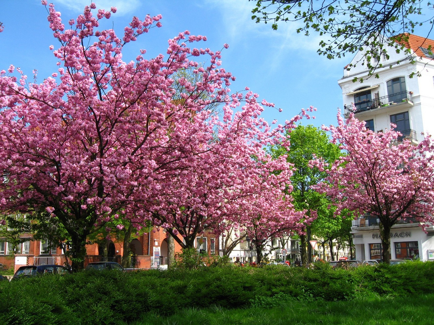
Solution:
[[[253,1],[253,0],[249,0]],[[364,49],[368,68],[372,75],[375,68],[370,58],[387,55],[385,45],[396,51],[405,48],[408,35],[416,26],[432,25],[430,10],[433,5],[422,0],[255,0],[252,20],[256,23],[272,23],[277,29],[279,22],[297,22],[297,33],[319,33],[319,55],[341,58],[345,54]],[[395,36],[399,35],[399,39]],[[428,35],[429,36],[429,33]],[[408,51],[410,54],[410,51]]]

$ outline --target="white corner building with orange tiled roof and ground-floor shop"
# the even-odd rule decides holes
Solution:
[[[353,111],[358,120],[365,120],[366,126],[375,132],[388,129],[390,123],[395,123],[402,138],[418,143],[423,139],[421,133],[434,134],[434,40],[408,36],[406,44],[411,50],[410,55],[386,47],[388,59],[381,53],[378,58],[372,58],[372,65],[382,65],[375,71],[379,78],[368,78],[366,58],[363,52],[358,52],[351,62],[355,66],[350,70],[344,68],[338,84],[342,88],[345,117]],[[415,63],[411,64],[411,59]],[[413,72],[415,75],[410,78]],[[417,76],[418,72],[420,76]],[[362,78],[363,82],[353,82],[354,78]],[[352,234],[358,260],[381,258],[376,218],[365,215],[353,221]],[[419,223],[401,223],[392,227],[391,258],[404,257],[434,260],[432,225],[427,228],[427,233],[422,231]]]

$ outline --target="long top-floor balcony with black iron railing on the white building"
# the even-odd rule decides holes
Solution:
[[[352,105],[344,105],[345,117],[348,117],[350,113],[358,114],[366,112],[368,110],[375,110],[378,108],[389,107],[391,105],[411,104],[413,106],[413,92],[401,91],[399,93],[378,97],[369,101],[362,101]]]

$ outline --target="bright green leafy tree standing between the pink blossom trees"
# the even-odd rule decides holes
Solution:
[[[293,185],[294,206],[297,210],[306,209],[307,218],[318,214],[323,206],[324,195],[312,189],[313,185],[321,182],[327,175],[316,167],[309,166],[309,161],[315,156],[325,161],[333,162],[340,155],[339,147],[329,142],[325,131],[312,125],[299,125],[290,132],[291,146],[289,152],[282,146],[272,146],[273,157],[287,155],[287,161],[294,164],[295,171],[291,177]],[[300,234],[302,263],[311,262],[312,247],[307,245],[311,239],[311,227],[306,226],[305,233]],[[307,246],[307,250],[306,250]]]

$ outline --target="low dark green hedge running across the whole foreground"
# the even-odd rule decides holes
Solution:
[[[285,300],[341,301],[434,293],[434,263],[333,270],[203,267],[135,273],[84,271],[0,282],[0,324],[125,324],[185,308],[273,307]]]

